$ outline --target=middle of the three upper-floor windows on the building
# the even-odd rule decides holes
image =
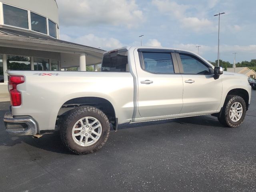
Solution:
[[[47,34],[46,18],[30,12],[31,17],[31,30]]]

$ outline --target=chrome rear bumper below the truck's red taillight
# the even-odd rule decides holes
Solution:
[[[15,135],[35,135],[38,133],[36,121],[30,117],[14,118],[12,112],[4,115],[6,132]]]

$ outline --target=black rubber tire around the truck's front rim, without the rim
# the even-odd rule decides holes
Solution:
[[[239,102],[242,106],[242,116],[238,121],[234,122],[230,118],[230,108],[236,102]],[[237,127],[240,124],[242,124],[242,122],[244,121],[245,114],[246,114],[246,103],[245,103],[244,99],[237,95],[228,95],[224,102],[224,106],[222,108],[222,113],[221,113],[220,117],[218,117],[218,120],[224,126]]]

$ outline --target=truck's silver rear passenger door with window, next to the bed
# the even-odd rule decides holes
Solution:
[[[138,49],[138,111],[141,117],[169,116],[182,109],[183,82],[174,50]]]

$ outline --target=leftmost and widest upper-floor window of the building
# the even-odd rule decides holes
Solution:
[[[28,11],[3,4],[4,24],[28,29]]]

